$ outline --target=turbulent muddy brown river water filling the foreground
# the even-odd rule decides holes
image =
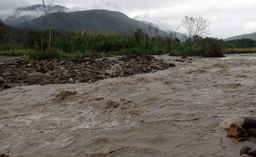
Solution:
[[[157,56],[166,62],[176,57]],[[256,54],[192,58],[157,73],[0,92],[0,151],[13,157],[239,157],[218,124],[256,114]],[[62,88],[74,90],[55,98]]]

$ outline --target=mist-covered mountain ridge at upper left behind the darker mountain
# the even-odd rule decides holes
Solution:
[[[56,12],[66,12],[68,8],[64,6],[52,6],[52,13]],[[32,6],[24,6],[15,9],[15,12],[12,15],[6,17],[6,19],[2,19],[3,22],[7,25],[18,25],[24,22],[28,22],[30,20],[34,20],[37,17],[40,17],[44,14],[44,6],[42,4],[35,4]]]

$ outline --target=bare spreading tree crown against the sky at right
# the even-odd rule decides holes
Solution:
[[[194,41],[197,37],[204,37],[210,33],[210,22],[203,17],[184,17],[181,20],[182,26],[187,31],[187,37],[189,40]]]

